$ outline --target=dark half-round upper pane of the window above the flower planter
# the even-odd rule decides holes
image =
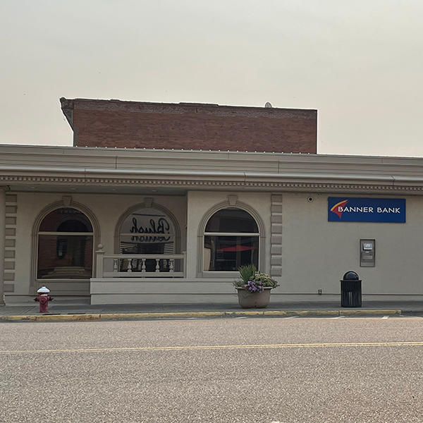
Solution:
[[[207,222],[206,232],[258,233],[256,221],[242,209],[221,209]]]

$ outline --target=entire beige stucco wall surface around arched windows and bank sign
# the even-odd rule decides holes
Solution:
[[[33,226],[37,216],[49,204],[60,202],[61,193],[13,192],[17,196],[16,269],[14,292],[6,295],[29,295],[32,283]],[[70,195],[70,194],[66,194]],[[407,202],[406,223],[341,223],[329,222],[327,199],[330,194],[278,193],[282,196],[281,231],[281,286],[274,290],[274,300],[324,299],[325,295],[338,298],[339,280],[348,270],[357,271],[362,278],[364,295],[423,295],[423,197],[403,196]],[[72,201],[84,204],[96,216],[100,239],[107,253],[114,252],[114,235],[118,219],[130,207],[144,202],[137,195],[71,194]],[[340,196],[339,193],[336,194]],[[309,198],[312,197],[312,201]],[[348,195],[352,197],[352,195]],[[361,196],[363,197],[363,196]],[[366,195],[372,197],[372,195]],[[373,196],[374,197],[374,196]],[[379,197],[389,197],[381,195]],[[270,192],[219,192],[190,191],[185,196],[154,195],[154,203],[169,209],[180,226],[181,250],[187,248],[187,281],[196,283],[195,292],[217,295],[219,281],[230,282],[235,275],[204,274],[199,254],[202,235],[199,232],[204,216],[214,207],[230,205],[253,210],[262,221],[264,238],[260,245],[263,254],[262,269],[271,269],[271,193]],[[231,204],[232,203],[232,204]],[[72,204],[71,204],[72,207]],[[186,228],[186,229],[185,229]],[[360,267],[360,238],[376,239],[376,266]],[[220,282],[219,282],[220,283]],[[62,282],[54,290],[60,291]],[[226,286],[226,285],[225,285]],[[220,297],[224,300],[230,290],[225,288]],[[323,296],[317,296],[317,290]],[[82,295],[89,291],[88,282],[68,283],[63,295]],[[215,301],[216,298],[213,297]],[[219,298],[220,298],[219,297]],[[169,294],[168,298],[171,298]],[[176,297],[175,297],[176,298]],[[186,299],[189,294],[186,294]],[[197,299],[198,299],[197,298]],[[210,297],[211,298],[211,297]],[[178,297],[180,301],[180,299]],[[227,298],[226,298],[227,300]]]

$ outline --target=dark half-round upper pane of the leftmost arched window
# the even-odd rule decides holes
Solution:
[[[92,224],[79,210],[61,207],[44,217],[39,232],[92,232]]]

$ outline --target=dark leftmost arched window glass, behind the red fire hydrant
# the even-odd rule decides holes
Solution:
[[[93,230],[90,219],[73,207],[44,217],[38,230],[37,279],[92,277]]]

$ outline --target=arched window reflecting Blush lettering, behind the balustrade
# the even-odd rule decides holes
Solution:
[[[125,217],[119,230],[119,253],[132,255],[172,255],[176,253],[176,228],[170,216],[154,207],[142,207]],[[121,266],[126,266],[121,262]],[[145,261],[147,271],[156,269],[156,260]],[[168,271],[161,259],[160,271]],[[121,269],[124,270],[124,269]],[[142,261],[133,260],[133,271],[142,270]]]

